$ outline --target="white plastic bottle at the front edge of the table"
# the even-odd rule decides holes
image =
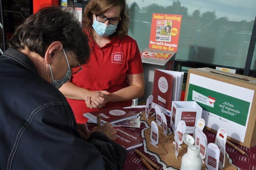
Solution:
[[[182,156],[180,170],[201,170],[203,161],[199,152],[197,146],[189,145],[187,153]]]

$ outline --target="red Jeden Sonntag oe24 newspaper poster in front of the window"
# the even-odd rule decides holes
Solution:
[[[150,49],[177,52],[182,15],[152,14]]]

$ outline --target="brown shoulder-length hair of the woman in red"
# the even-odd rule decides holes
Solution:
[[[129,18],[126,14],[126,2],[125,0],[90,0],[84,10],[84,16],[83,16],[83,27],[85,27],[89,32],[93,34],[93,28],[92,28],[92,17],[93,14],[102,14],[108,9],[114,7],[114,6],[120,6],[121,7],[121,21],[117,25],[116,32],[110,35],[110,38],[112,38],[114,35],[117,35],[119,38],[124,38],[124,36],[128,32],[129,27]]]

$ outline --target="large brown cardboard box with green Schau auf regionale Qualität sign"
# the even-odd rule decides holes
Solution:
[[[227,139],[256,145],[256,79],[210,68],[189,69],[185,100],[202,108],[205,128],[227,131]]]

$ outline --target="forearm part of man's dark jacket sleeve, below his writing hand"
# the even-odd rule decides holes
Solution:
[[[126,158],[126,150],[121,145],[110,140],[104,133],[91,133],[87,142],[94,145],[102,154],[105,168],[121,169]]]

